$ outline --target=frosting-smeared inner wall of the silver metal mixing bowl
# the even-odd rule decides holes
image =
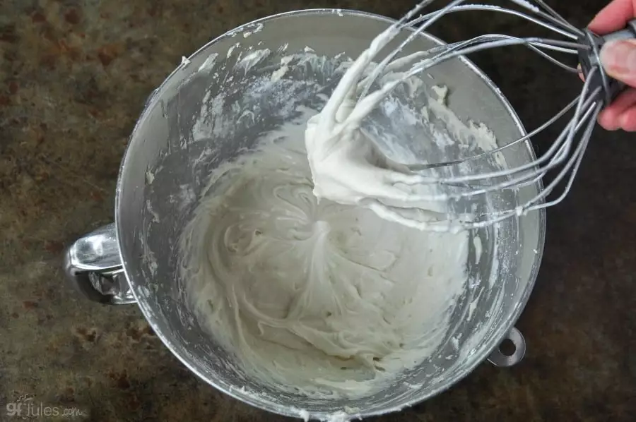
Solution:
[[[469,283],[452,310],[452,326],[439,350],[379,392],[353,400],[281,392],[250,378],[192,313],[185,281],[179,276],[179,236],[211,171],[249,153],[259,135],[298,117],[302,107],[319,109],[346,68],[341,65],[358,56],[390,24],[387,18],[367,13],[300,11],[250,23],[214,40],[155,92],[122,164],[117,230],[139,306],[163,342],[197,375],[262,409],[288,416],[307,412],[317,418],[337,411],[368,416],[420,402],[463,378],[488,356],[514,324],[534,283],[542,251],[543,212],[473,231]],[[408,30],[389,49],[406,35]],[[422,35],[401,54],[437,42]],[[293,59],[281,75],[281,59],[290,56]],[[423,133],[443,133],[444,122],[408,125],[404,115],[389,116],[390,102],[401,101],[421,112],[437,99],[433,87],[440,86],[449,88],[446,104],[459,119],[484,123],[500,144],[522,135],[510,105],[468,61],[448,61],[421,80],[421,95],[411,96],[408,87],[400,88],[365,122],[367,130],[396,133],[409,140],[408,147],[420,148],[423,157],[430,158],[436,152],[418,140]],[[434,119],[434,107],[429,110]],[[471,148],[477,147],[464,153],[480,152]],[[510,166],[532,158],[528,144],[505,153]],[[476,165],[490,168],[493,163]],[[514,207],[539,188],[488,195],[476,205]]]

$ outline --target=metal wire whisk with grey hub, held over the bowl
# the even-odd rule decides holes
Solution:
[[[394,49],[386,58],[380,61],[380,63],[373,68],[370,74],[362,80],[360,85],[358,85],[358,90],[361,92],[358,97],[358,102],[379,102],[382,97],[394,89],[397,84],[404,82],[408,78],[416,76],[418,73],[426,71],[428,68],[440,64],[443,61],[484,49],[507,47],[512,45],[524,45],[529,47],[529,49],[541,55],[543,58],[570,73],[576,74],[580,69],[580,72],[582,72],[584,76],[584,83],[582,84],[582,91],[580,95],[567,104],[567,106],[559,111],[558,114],[527,135],[524,135],[522,138],[513,140],[512,142],[497,147],[494,150],[483,152],[480,155],[464,157],[447,162],[411,164],[406,167],[409,171],[413,171],[416,174],[418,174],[418,172],[420,172],[419,174],[424,174],[422,172],[429,169],[440,169],[441,167],[453,166],[455,164],[470,162],[475,159],[483,159],[485,156],[496,154],[506,148],[528,140],[548,128],[548,126],[555,124],[555,122],[560,120],[568,112],[573,111],[572,118],[565,124],[563,131],[560,132],[556,140],[552,143],[552,145],[550,145],[547,152],[534,159],[534,161],[519,167],[502,169],[499,171],[488,171],[449,177],[418,176],[414,177],[411,181],[400,180],[398,182],[406,184],[439,183],[447,186],[464,186],[464,189],[454,193],[425,195],[425,197],[420,198],[423,200],[472,198],[477,195],[484,195],[493,191],[502,191],[506,189],[515,190],[522,188],[523,186],[540,181],[544,176],[546,176],[548,171],[560,167],[560,170],[558,171],[558,174],[555,175],[554,179],[550,181],[543,190],[539,191],[534,198],[531,198],[531,200],[526,203],[519,204],[509,210],[488,212],[488,214],[475,219],[470,219],[470,221],[458,220],[453,222],[455,226],[459,225],[466,229],[485,227],[490,224],[501,222],[502,220],[514,215],[524,215],[527,212],[540,210],[560,203],[566,197],[567,193],[570,192],[570,188],[572,188],[572,183],[575,180],[575,176],[582,162],[584,152],[591,138],[591,133],[594,129],[599,112],[604,105],[609,104],[614,97],[616,97],[616,95],[625,88],[622,83],[618,82],[618,80],[614,80],[607,75],[606,71],[601,66],[599,51],[603,44],[610,40],[625,40],[636,37],[636,20],[632,21],[625,30],[601,37],[588,29],[579,29],[571,25],[567,22],[567,20],[565,20],[565,18],[560,16],[553,10],[553,8],[550,8],[550,6],[542,0],[534,0],[533,2],[526,0],[510,0],[511,6],[516,5],[517,8],[521,10],[517,10],[517,8],[505,8],[484,4],[466,4],[466,1],[464,0],[454,0],[437,11],[414,18],[416,14],[420,13],[420,11],[425,8],[425,6],[431,4],[432,1],[433,0],[421,1],[416,7],[406,13],[403,18],[392,25],[392,37],[395,37],[401,28],[415,27],[416,25],[419,26],[417,29],[413,30],[411,35],[409,35],[404,42],[399,44],[399,47]],[[411,42],[414,38],[418,37],[420,32],[429,28],[432,23],[442,18],[442,16],[459,11],[490,11],[492,13],[508,13],[519,18],[529,20],[532,23],[536,23],[537,25],[554,32],[562,39],[558,40],[543,37],[514,37],[512,35],[488,34],[474,37],[471,40],[464,40],[441,47],[434,47],[423,52],[418,52],[417,54],[412,54],[411,56],[395,59],[395,56],[401,52],[401,49],[403,49],[408,42]],[[389,37],[386,42],[388,43],[392,37]],[[553,56],[553,52],[560,52],[575,56],[576,61],[574,66],[556,59]],[[368,95],[368,97],[374,97],[373,99],[367,98],[370,87],[377,78],[394,68],[403,68],[408,65],[411,65],[411,68],[404,73],[404,76],[402,76],[401,79],[394,83],[384,85],[382,89],[379,90],[381,92],[374,92],[373,95]],[[577,65],[579,65],[579,69],[577,69]],[[376,93],[379,95],[375,95]],[[555,189],[563,181],[565,181],[565,188],[563,191],[560,193],[555,192]],[[449,227],[448,222],[445,222],[444,224],[446,224],[446,227]],[[435,224],[431,227],[434,228]]]

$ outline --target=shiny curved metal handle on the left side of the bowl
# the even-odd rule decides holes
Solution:
[[[71,285],[91,301],[109,305],[136,302],[119,258],[114,224],[76,240],[64,255],[64,272]]]

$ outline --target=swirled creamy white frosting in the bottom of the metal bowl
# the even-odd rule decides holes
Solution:
[[[466,284],[468,234],[318,203],[308,117],[213,172],[182,235],[182,276],[199,320],[248,375],[363,397],[440,347]]]

